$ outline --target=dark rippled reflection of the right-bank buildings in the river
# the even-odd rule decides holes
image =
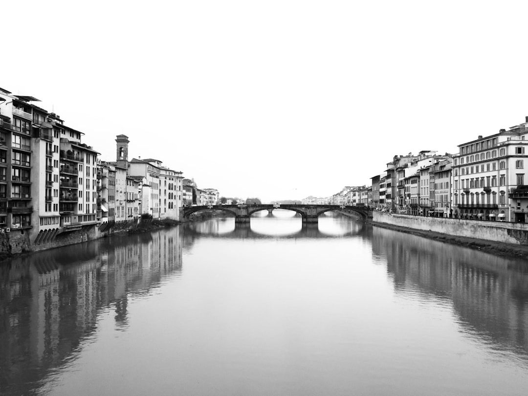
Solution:
[[[526,261],[373,227],[373,253],[386,260],[395,292],[442,299],[460,330],[492,348],[528,356]]]

